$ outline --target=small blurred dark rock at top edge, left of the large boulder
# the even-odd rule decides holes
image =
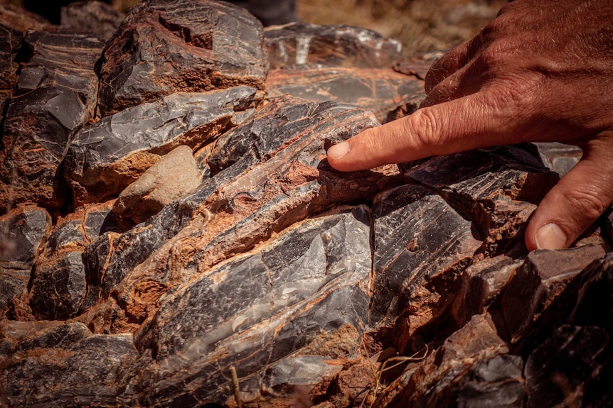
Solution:
[[[60,26],[75,33],[89,33],[109,40],[124,16],[102,1],[73,1],[61,9]]]

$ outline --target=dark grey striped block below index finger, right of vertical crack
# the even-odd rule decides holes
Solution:
[[[432,320],[432,309],[481,241],[470,221],[432,190],[415,184],[376,197],[373,219],[371,322],[391,324],[400,316],[403,329],[395,338],[402,343]]]

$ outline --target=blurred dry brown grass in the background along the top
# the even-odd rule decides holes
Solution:
[[[0,0],[21,6],[24,0]],[[70,1],[25,0],[45,6]],[[108,0],[128,11],[139,0]],[[299,21],[370,28],[403,43],[405,55],[449,50],[471,38],[506,0],[297,0]]]

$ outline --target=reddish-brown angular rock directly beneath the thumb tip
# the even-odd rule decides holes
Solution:
[[[516,343],[526,333],[572,277],[602,255],[604,250],[599,246],[535,250],[528,254],[507,285],[501,302],[511,342]]]

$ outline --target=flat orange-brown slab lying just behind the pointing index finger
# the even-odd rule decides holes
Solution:
[[[421,79],[391,68],[298,65],[272,70],[266,83],[268,98],[289,94],[311,101],[344,102],[372,111],[381,123],[398,118],[400,106],[412,104],[417,110],[425,97]]]

